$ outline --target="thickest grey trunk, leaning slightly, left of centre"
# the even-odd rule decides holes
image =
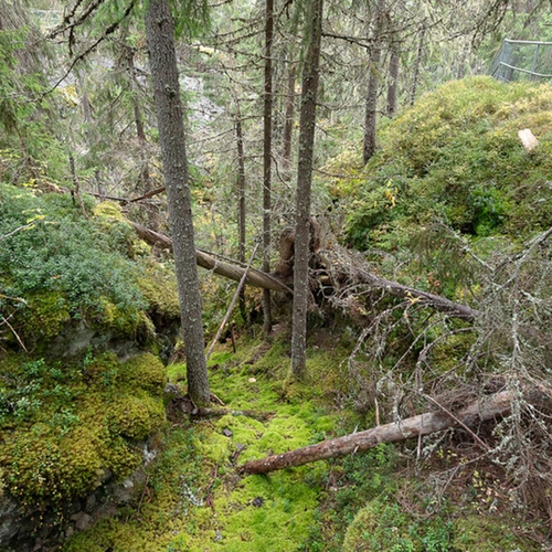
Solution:
[[[184,333],[188,392],[197,406],[205,406],[210,389],[174,28],[168,0],[149,0],[145,21]]]

